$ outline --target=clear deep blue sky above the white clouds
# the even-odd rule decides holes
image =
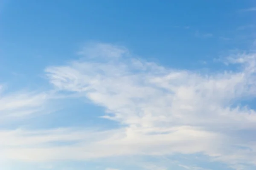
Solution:
[[[193,62],[211,60],[222,51],[249,48],[255,35],[237,28],[254,23],[252,14],[240,11],[253,3],[11,0],[4,3],[1,14],[1,46],[15,48],[9,57],[20,65],[24,57],[42,65],[47,58],[54,64],[58,58],[69,58],[84,41],[95,40],[126,45],[138,55],[174,67],[184,64],[177,58],[188,60],[186,66],[193,67]],[[232,40],[226,42],[225,38]],[[243,38],[246,40],[241,41]]]

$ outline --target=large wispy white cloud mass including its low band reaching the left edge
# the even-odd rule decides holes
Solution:
[[[212,74],[164,68],[110,44],[86,46],[82,54],[86,56],[79,61],[46,68],[50,83],[104,107],[104,118],[122,126],[105,131],[3,131],[0,146],[6,157],[53,161],[202,153],[234,167],[256,165],[256,138],[241,137],[256,132],[256,112],[237,105],[256,96],[255,54],[227,59],[239,63],[239,71]],[[32,105],[36,99],[23,103]]]

